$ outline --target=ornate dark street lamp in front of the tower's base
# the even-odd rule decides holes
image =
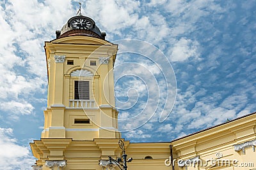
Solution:
[[[109,156],[108,160],[99,160],[100,166],[106,167],[107,169],[115,169],[115,167],[118,166],[121,170],[127,170],[127,162],[131,162],[132,158],[127,160],[124,142],[121,139],[119,139],[118,144],[119,147],[122,149],[122,158],[118,158],[117,160],[115,160],[111,156]]]

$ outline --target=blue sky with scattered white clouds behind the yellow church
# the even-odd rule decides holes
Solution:
[[[117,103],[120,118],[140,113],[143,122],[122,122],[119,129],[128,130],[123,138],[170,141],[256,111],[255,0],[81,3],[82,14],[95,20],[108,41],[139,39],[163,52],[151,60],[117,56],[116,98],[130,106]],[[44,41],[54,39],[78,7],[71,0],[0,1],[0,169],[30,169],[34,163],[29,142],[40,139],[47,104]],[[134,59],[129,69],[118,68]],[[165,59],[170,66],[164,67]],[[136,76],[127,74],[131,68]],[[173,75],[174,106],[173,89],[167,88]],[[159,122],[163,108],[172,112]]]

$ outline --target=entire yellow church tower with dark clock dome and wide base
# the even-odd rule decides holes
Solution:
[[[45,42],[47,108],[41,139],[30,143],[38,159],[33,169],[100,169],[99,159],[120,153],[113,76],[118,45],[105,36],[80,14]]]

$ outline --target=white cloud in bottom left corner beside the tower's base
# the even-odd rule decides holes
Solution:
[[[1,169],[31,169],[35,163],[29,153],[29,148],[17,144],[17,140],[12,138],[13,129],[0,127],[0,164]]]

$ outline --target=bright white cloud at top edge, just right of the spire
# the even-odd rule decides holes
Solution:
[[[138,20],[140,1],[87,1],[86,14],[100,23],[108,32],[120,34],[120,29],[133,25]],[[102,28],[102,29],[103,29]]]

